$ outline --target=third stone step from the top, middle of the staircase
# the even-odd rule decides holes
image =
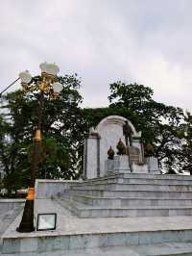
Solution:
[[[62,197],[65,193],[69,191],[60,192],[60,197]],[[192,199],[192,192],[165,192],[165,191],[107,191],[107,190],[79,190],[73,189],[70,191],[70,194],[85,194],[85,195],[93,195],[93,196],[100,196],[100,197],[155,197],[155,198],[180,198],[180,199]]]

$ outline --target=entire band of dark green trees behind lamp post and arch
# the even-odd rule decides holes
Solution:
[[[37,85],[40,77],[32,80]],[[116,82],[109,86],[109,106],[82,109],[78,76],[59,77],[63,90],[57,99],[45,95],[42,113],[43,140],[36,178],[77,179],[83,173],[84,137],[108,115],[122,115],[142,131],[148,154],[158,158],[167,172],[192,172],[192,115],[180,108],[156,102],[146,86]],[[26,188],[30,181],[33,135],[39,94],[21,90],[1,98],[0,165],[5,172],[4,187],[9,192]],[[153,152],[153,153],[152,153]]]

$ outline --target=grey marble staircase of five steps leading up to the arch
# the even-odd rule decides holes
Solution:
[[[79,218],[192,216],[192,177],[119,173],[58,194]]]

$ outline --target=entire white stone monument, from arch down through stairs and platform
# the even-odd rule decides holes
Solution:
[[[9,218],[0,255],[192,255],[192,177],[159,175],[140,138],[128,119],[108,116],[85,140],[87,180],[36,180],[36,219],[57,214],[56,230],[21,235],[18,215],[4,232],[16,206],[0,200]]]

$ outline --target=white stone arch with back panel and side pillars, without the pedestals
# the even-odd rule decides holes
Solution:
[[[132,122],[120,115],[108,115],[99,124],[90,128],[89,136],[84,142],[84,176],[87,178],[103,177],[106,174],[105,164],[108,161],[108,148],[111,146],[117,151],[116,145],[121,139],[124,143],[123,125],[128,122],[132,129],[132,146],[140,151],[140,159],[143,158],[143,147],[140,142],[141,132],[137,132]],[[153,164],[152,164],[153,165]],[[141,166],[135,166],[141,168]],[[156,167],[156,170],[158,167]],[[137,169],[136,169],[137,171]]]

